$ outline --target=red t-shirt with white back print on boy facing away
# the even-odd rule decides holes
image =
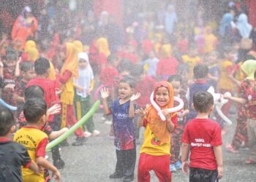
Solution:
[[[213,146],[222,145],[221,128],[217,122],[211,119],[192,119],[185,126],[182,142],[190,146],[189,167],[217,169]]]

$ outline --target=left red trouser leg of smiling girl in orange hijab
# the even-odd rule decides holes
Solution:
[[[153,157],[151,155],[142,153],[140,154],[138,164],[138,182],[150,182],[150,173],[152,170]]]

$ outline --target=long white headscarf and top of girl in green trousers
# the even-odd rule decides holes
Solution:
[[[82,91],[76,90],[77,94],[83,98],[86,98],[86,92],[91,86],[91,80],[94,79],[94,73],[89,63],[89,57],[85,52],[80,52],[78,54],[78,62],[80,59],[86,60],[87,66],[86,68],[80,68],[78,66],[78,79],[74,79],[74,82],[75,84],[78,84],[80,87],[83,87]]]

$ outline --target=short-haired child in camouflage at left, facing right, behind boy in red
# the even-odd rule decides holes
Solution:
[[[13,95],[13,99],[17,103],[17,116],[20,115],[21,111],[23,110],[23,104],[24,104],[24,90],[26,89],[26,84],[31,79],[34,79],[34,63],[25,61],[20,64],[20,74],[21,74],[21,79],[20,82],[18,82],[15,85],[15,92]]]

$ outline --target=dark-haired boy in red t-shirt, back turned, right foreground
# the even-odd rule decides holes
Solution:
[[[190,148],[189,181],[218,181],[223,175],[221,128],[208,119],[214,110],[214,97],[209,92],[197,92],[193,104],[197,117],[186,124],[182,136],[182,170],[188,173]]]

